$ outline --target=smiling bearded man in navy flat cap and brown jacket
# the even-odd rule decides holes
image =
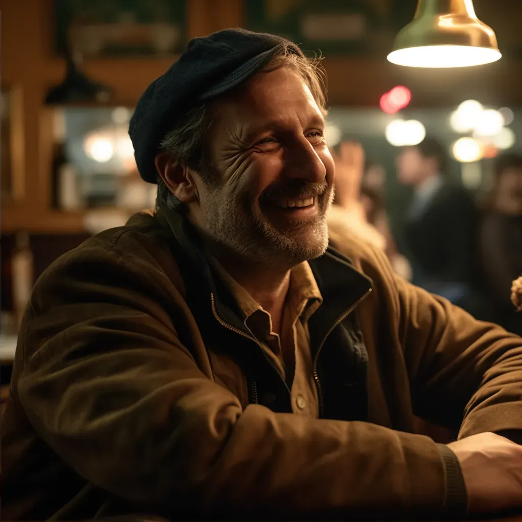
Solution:
[[[294,44],[195,39],[129,132],[155,215],[35,284],[3,518],[442,517],[522,504],[522,340],[327,248],[333,161]],[[437,445],[413,414],[460,440]]]

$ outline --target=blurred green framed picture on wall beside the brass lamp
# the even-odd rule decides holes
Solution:
[[[280,34],[304,51],[386,56],[416,0],[244,0],[246,27]]]

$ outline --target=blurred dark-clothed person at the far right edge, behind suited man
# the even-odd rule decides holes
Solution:
[[[522,155],[505,153],[495,161],[493,189],[480,227],[483,283],[494,320],[522,335],[522,316],[509,302],[512,280],[522,273]]]

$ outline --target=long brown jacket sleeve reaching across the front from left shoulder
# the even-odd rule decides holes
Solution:
[[[181,342],[191,319],[146,255],[68,255],[23,325],[15,393],[80,476],[167,516],[444,513],[451,452],[430,438],[242,409]]]

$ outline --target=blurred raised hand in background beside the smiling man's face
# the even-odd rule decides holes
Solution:
[[[364,149],[360,143],[344,141],[335,160],[336,203],[347,210],[360,205],[361,180],[364,172]]]

